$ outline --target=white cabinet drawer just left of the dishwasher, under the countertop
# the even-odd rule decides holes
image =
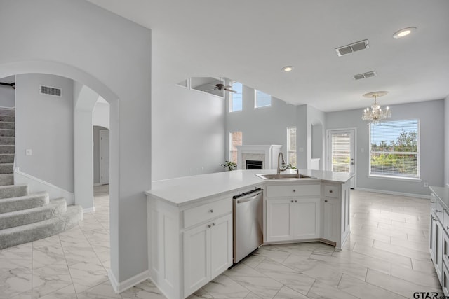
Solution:
[[[192,209],[186,209],[184,211],[184,227],[188,228],[189,226],[208,221],[209,219],[230,213],[231,211],[232,199],[230,197],[229,199],[218,200]]]

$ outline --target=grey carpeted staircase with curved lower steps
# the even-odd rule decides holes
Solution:
[[[0,109],[0,249],[56,235],[83,220],[81,206],[13,185],[14,118],[14,109]]]

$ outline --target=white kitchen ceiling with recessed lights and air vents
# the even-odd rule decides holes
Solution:
[[[89,0],[152,29],[152,87],[227,77],[290,104],[361,109],[449,95],[448,0]],[[413,35],[393,39],[398,29]],[[335,48],[368,39],[338,57]],[[286,73],[281,68],[293,65]],[[351,75],[377,71],[354,81]]]

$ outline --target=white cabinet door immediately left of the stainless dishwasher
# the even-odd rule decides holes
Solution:
[[[232,266],[232,248],[232,214],[229,214],[213,221],[210,228],[210,279]]]

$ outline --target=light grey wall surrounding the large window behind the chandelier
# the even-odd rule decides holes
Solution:
[[[384,190],[397,193],[429,195],[429,186],[443,186],[444,176],[444,102],[443,100],[390,106],[391,120],[420,118],[421,180],[404,181],[368,177],[369,127],[361,120],[362,109],[326,113],[327,129],[356,127],[358,188]]]

